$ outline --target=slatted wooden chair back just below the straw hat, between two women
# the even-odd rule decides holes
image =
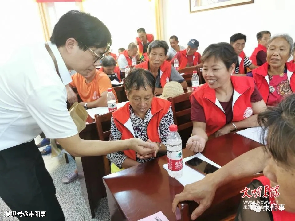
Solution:
[[[191,136],[193,128],[193,123],[191,122],[191,102],[189,99],[191,93],[190,91],[174,98],[168,98],[168,101],[171,102],[174,124],[178,127],[183,147],[185,147],[187,139]]]

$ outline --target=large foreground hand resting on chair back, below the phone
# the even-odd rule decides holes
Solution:
[[[203,180],[188,184],[184,187],[183,192],[175,195],[172,203],[173,212],[176,211],[179,202],[185,200],[194,200],[199,206],[192,212],[191,219],[195,220],[197,217],[210,207],[216,192],[216,185],[207,176]]]

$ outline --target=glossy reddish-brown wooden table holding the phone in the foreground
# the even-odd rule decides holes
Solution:
[[[203,154],[223,166],[258,146],[261,144],[230,133],[209,140]],[[183,149],[183,157],[191,155],[194,153]],[[180,220],[172,213],[171,205],[174,196],[183,191],[183,186],[169,177],[162,166],[166,163],[164,156],[103,178],[112,221],[137,221],[159,211],[170,221]]]

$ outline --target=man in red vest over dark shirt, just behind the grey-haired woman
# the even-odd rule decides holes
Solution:
[[[266,47],[269,43],[270,35],[269,31],[261,31],[257,33],[256,38],[258,46],[254,49],[254,52],[250,57],[252,64],[261,66],[266,62]]]

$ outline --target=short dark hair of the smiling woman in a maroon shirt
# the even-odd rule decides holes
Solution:
[[[233,46],[226,42],[219,42],[217,44],[209,45],[204,50],[201,60],[204,62],[211,57],[222,60],[227,70],[229,70],[230,66],[236,63],[238,60],[238,55],[234,51]]]

